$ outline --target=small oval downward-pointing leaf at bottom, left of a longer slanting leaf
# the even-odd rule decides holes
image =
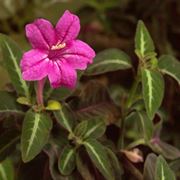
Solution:
[[[76,153],[75,149],[67,145],[62,154],[60,155],[59,161],[58,161],[58,168],[61,174],[63,175],[69,175],[72,173],[72,171],[75,168],[75,158]]]

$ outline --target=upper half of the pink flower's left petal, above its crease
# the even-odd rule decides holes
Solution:
[[[43,59],[47,58],[47,56],[48,55],[46,51],[41,51],[37,49],[32,49],[30,51],[25,52],[20,62],[22,71],[26,71],[27,69],[36,65]]]

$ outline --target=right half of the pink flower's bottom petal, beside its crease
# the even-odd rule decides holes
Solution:
[[[64,60],[58,61],[58,64],[61,69],[61,86],[73,89],[76,86],[77,73],[76,71],[69,66],[68,63]]]

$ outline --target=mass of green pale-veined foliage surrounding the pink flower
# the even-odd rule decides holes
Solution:
[[[85,6],[105,15],[117,1],[100,6],[93,0]],[[99,18],[105,23],[103,16]],[[54,180],[173,180],[180,176],[180,150],[171,141],[173,135],[164,131],[162,106],[168,90],[166,75],[179,85],[180,63],[171,54],[157,55],[143,21],[138,21],[134,33],[137,66],[131,53],[104,49],[80,73],[73,91],[46,84],[44,107],[36,103],[36,84],[21,77],[22,49],[0,34],[3,67],[13,86],[9,92],[0,91],[0,179],[29,179],[34,164],[36,179],[38,173],[42,179]],[[107,80],[119,72],[133,74],[130,88]]]

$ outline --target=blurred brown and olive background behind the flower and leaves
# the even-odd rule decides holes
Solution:
[[[80,17],[79,38],[96,52],[107,48],[122,49],[132,57],[136,67],[134,34],[137,21],[142,19],[151,33],[158,55],[168,53],[180,58],[180,0],[0,0],[0,33],[9,35],[24,51],[28,50],[25,24],[38,17],[55,24],[66,9]],[[122,85],[128,89],[133,72],[108,73],[98,78],[106,84]],[[8,81],[7,73],[0,66],[0,89],[6,88]],[[163,107],[168,114],[165,118],[168,125],[165,129],[171,129],[171,138],[167,133],[164,138],[173,139],[173,144],[180,148],[179,86],[166,77],[166,87]]]

